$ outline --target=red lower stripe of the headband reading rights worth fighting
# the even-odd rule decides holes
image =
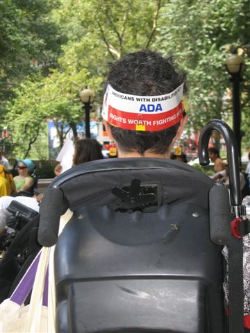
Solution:
[[[145,126],[147,131],[164,130],[183,119],[182,101],[176,108],[166,112],[133,113],[117,110],[108,105],[108,123],[124,130],[136,130],[136,126]]]

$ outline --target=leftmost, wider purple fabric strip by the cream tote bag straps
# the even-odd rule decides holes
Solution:
[[[17,303],[18,305],[22,305],[24,303],[24,300],[26,300],[28,294],[31,292],[35,281],[35,273],[38,269],[40,255],[41,250],[33,260],[31,266],[29,266],[28,270],[24,274],[24,277],[17,285],[15,291],[13,291],[12,295],[10,296],[10,300],[12,300],[12,302]]]

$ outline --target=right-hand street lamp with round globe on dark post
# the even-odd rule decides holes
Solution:
[[[226,59],[226,70],[231,74],[233,83],[233,133],[238,145],[238,153],[241,165],[241,113],[240,113],[240,76],[244,69],[244,60],[241,56],[234,54]]]

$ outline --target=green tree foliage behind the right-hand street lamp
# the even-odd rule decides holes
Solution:
[[[188,73],[190,126],[195,130],[210,119],[230,121],[231,96],[226,89],[231,83],[224,64],[231,53],[240,53],[249,65],[249,9],[249,0],[175,0],[163,8],[158,49],[174,54]],[[243,119],[249,114],[249,93],[245,72]]]

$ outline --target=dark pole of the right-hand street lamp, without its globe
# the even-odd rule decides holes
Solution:
[[[241,166],[241,114],[240,114],[240,74],[232,74],[233,82],[233,133],[238,145],[239,163]]]

